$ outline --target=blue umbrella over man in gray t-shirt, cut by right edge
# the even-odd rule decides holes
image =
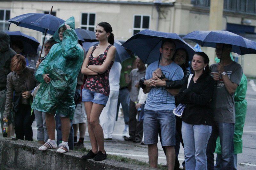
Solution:
[[[256,54],[256,42],[229,31],[193,31],[182,39],[194,41],[203,47],[215,48],[216,43],[231,44],[234,53]]]

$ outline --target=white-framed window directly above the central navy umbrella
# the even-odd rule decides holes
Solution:
[[[133,19],[133,35],[144,29],[149,29],[150,16],[134,15]]]

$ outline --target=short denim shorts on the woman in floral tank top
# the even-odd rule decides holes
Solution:
[[[106,106],[108,101],[108,96],[104,94],[93,92],[91,90],[83,89],[82,90],[82,101],[92,102]]]

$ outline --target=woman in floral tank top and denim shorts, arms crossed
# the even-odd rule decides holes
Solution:
[[[82,73],[87,75],[82,90],[82,101],[87,114],[88,132],[92,145],[92,150],[82,156],[82,159],[103,160],[107,158],[107,154],[104,149],[103,130],[99,117],[108,101],[110,91],[108,75],[115,61],[116,48],[113,46],[112,27],[107,22],[97,25],[95,35],[100,43],[89,49],[82,66]]]

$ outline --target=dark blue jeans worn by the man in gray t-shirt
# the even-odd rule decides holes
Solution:
[[[234,123],[214,122],[212,124],[212,135],[209,139],[206,155],[207,155],[207,168],[209,170],[214,169],[214,155],[216,147],[216,140],[220,135],[221,146],[221,167],[222,169],[234,168]]]

